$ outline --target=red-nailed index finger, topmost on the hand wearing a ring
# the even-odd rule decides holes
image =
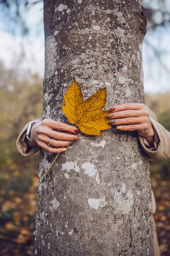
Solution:
[[[45,121],[45,119],[43,121]],[[51,129],[59,129],[61,131],[68,131],[69,133],[79,133],[79,130],[77,130],[77,128],[74,126],[67,125],[63,122],[54,121],[52,119],[47,119],[44,124]]]

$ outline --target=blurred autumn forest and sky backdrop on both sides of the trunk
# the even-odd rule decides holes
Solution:
[[[37,209],[39,153],[23,157],[16,140],[28,121],[42,116],[43,5],[25,0],[24,5],[7,3],[0,1],[0,256],[28,256]],[[143,10],[148,20],[143,44],[145,104],[170,131],[170,3],[145,0]],[[150,175],[161,255],[167,256],[170,159],[150,161]]]

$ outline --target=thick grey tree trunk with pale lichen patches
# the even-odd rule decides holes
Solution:
[[[107,88],[105,109],[144,102],[145,21],[136,0],[44,0],[44,118],[62,113],[70,83],[84,99]],[[136,132],[110,129],[59,155],[40,152],[34,255],[153,256],[148,158]]]

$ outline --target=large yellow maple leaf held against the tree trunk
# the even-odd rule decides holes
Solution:
[[[106,119],[109,111],[102,111],[106,104],[106,88],[98,90],[83,101],[81,87],[74,80],[64,94],[62,111],[71,124],[77,124],[80,131],[89,135],[100,135],[111,128]]]

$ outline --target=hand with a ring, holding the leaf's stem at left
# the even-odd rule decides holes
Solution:
[[[52,119],[44,119],[32,125],[30,138],[40,148],[51,153],[60,153],[66,150],[65,146],[72,145],[79,140],[79,137],[72,135],[73,133],[79,133],[74,126]],[[48,146],[49,138],[51,138],[50,147]],[[31,144],[28,143],[29,146],[33,146]]]

